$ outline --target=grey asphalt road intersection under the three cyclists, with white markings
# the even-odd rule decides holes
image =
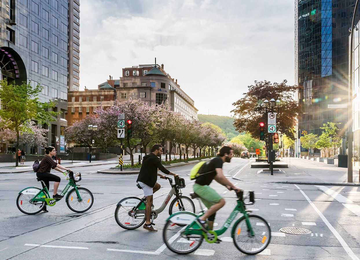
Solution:
[[[204,242],[195,253],[180,256],[166,248],[162,227],[168,209],[159,214],[155,227],[148,232],[142,227],[127,231],[117,225],[114,210],[127,196],[142,196],[136,188],[136,175],[104,175],[98,167],[77,168],[82,172],[78,184],[94,194],[94,204],[86,213],[74,213],[64,200],[48,207],[49,213],[25,215],[16,206],[18,192],[28,186],[41,187],[34,173],[0,174],[0,259],[359,259],[360,257],[360,189],[341,186],[306,186],[294,184],[250,183],[232,180],[248,159],[234,158],[224,164],[226,176],[245,191],[255,191],[256,203],[249,207],[270,224],[270,245],[262,253],[247,256],[230,240],[230,230],[220,236],[220,244]],[[111,165],[106,165],[111,167]],[[193,165],[171,169],[186,181],[185,196],[192,191],[193,181],[187,174]],[[305,166],[304,166],[305,167]],[[60,176],[60,173],[59,173]],[[237,177],[241,176],[241,171]],[[155,207],[165,200],[170,186],[159,179],[162,188],[155,193]],[[62,177],[60,190],[66,180]],[[52,183],[50,184],[50,187]],[[224,224],[235,205],[232,191],[218,183],[211,184],[225,197],[226,205],[217,213],[215,222]],[[51,191],[50,191],[51,194]],[[198,201],[194,201],[199,211]],[[309,234],[280,232],[283,227],[306,228]]]

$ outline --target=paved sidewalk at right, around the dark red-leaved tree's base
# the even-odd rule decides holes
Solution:
[[[357,170],[353,171],[353,182],[348,183],[347,168],[338,168],[332,164],[300,158],[283,158],[281,161],[287,163],[289,168],[280,168],[281,171],[274,171],[274,175],[271,175],[270,172],[262,172],[262,169],[259,168],[246,166],[233,178],[249,182],[360,186]]]

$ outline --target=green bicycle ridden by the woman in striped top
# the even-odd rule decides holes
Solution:
[[[64,175],[68,173],[64,172]],[[16,199],[16,205],[18,209],[28,215],[33,215],[41,212],[45,205],[54,206],[58,200],[50,197],[48,188],[45,186],[44,181],[39,178],[36,178],[37,181],[41,182],[42,189],[38,187],[27,187],[19,192],[19,195]],[[91,208],[94,203],[94,196],[91,191],[86,188],[80,188],[80,185],[76,184],[81,180],[81,173],[73,174],[69,173],[68,184],[62,191],[61,195],[64,196],[65,193],[71,189],[66,196],[66,204],[72,211],[77,213],[82,213]]]

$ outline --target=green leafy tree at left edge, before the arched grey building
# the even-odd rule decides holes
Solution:
[[[55,121],[54,117],[60,113],[51,111],[55,102],[39,101],[38,96],[41,90],[40,85],[33,88],[30,83],[25,82],[22,85],[16,85],[15,82],[9,84],[5,79],[0,82],[0,117],[9,121],[7,128],[16,134],[15,151],[19,148],[20,132],[27,120],[33,119],[40,123],[47,123]],[[18,166],[17,158],[16,166]]]

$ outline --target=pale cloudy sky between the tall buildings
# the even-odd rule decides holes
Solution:
[[[80,90],[164,64],[199,114],[231,115],[255,80],[294,83],[294,1],[86,0]]]

